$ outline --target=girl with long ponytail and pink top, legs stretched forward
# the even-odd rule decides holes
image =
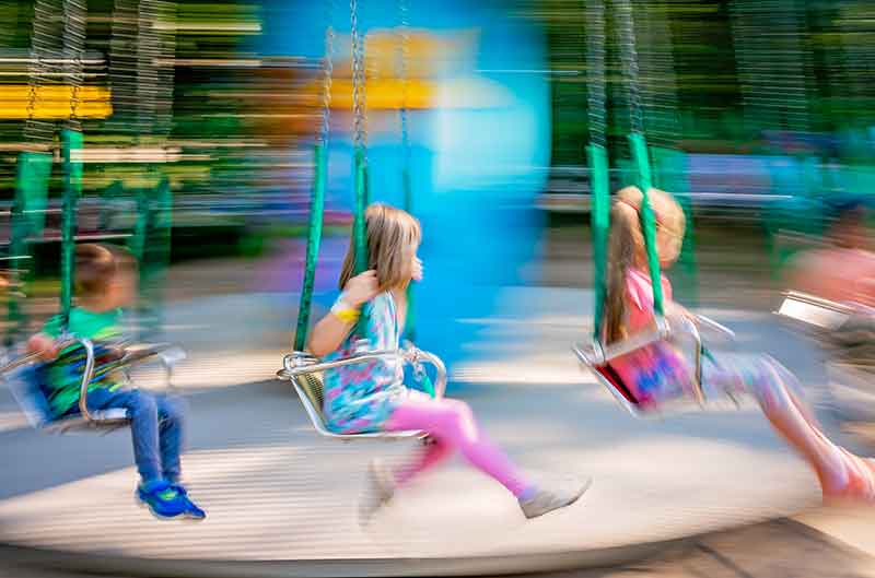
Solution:
[[[649,200],[656,216],[656,247],[662,268],[677,259],[684,238],[685,217],[666,192],[652,189]],[[621,341],[654,327],[653,287],[641,229],[641,190],[620,190],[611,208],[608,248],[608,287],[604,341]],[[662,278],[665,312],[672,317],[696,318],[672,300],[672,286]],[[716,366],[705,363],[702,381],[705,397],[748,393],[779,434],[814,469],[824,499],[875,502],[875,462],[836,446],[819,428],[810,410],[797,394],[798,382],[786,368],[767,356],[733,355]],[[657,342],[611,362],[635,398],[654,406],[674,397],[689,394],[692,367],[680,353]]]

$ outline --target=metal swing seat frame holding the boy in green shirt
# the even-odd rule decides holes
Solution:
[[[39,359],[38,353],[22,355],[18,359],[12,361],[3,366],[2,369],[0,369],[0,374],[2,374],[3,378],[9,384],[10,390],[12,391],[12,394],[15,398],[19,406],[27,417],[28,423],[31,423],[31,425],[37,429],[55,434],[66,434],[73,430],[98,430],[103,433],[109,433],[114,429],[128,426],[130,424],[130,418],[127,415],[127,410],[89,410],[86,403],[88,390],[89,385],[94,377],[95,368],[94,344],[91,340],[68,335],[61,339],[57,343],[57,346],[62,351],[75,344],[79,344],[85,350],[85,366],[82,370],[82,382],[80,385],[78,402],[79,414],[52,417],[49,413],[48,402],[45,400],[45,394],[42,392],[42,390],[37,391],[39,389],[39,385],[34,382],[24,382],[24,380],[26,380],[28,377],[33,378],[34,376],[24,377],[20,374],[20,371],[25,370],[26,366],[44,363]],[[143,362],[149,357],[159,356],[162,359],[162,363],[164,363],[165,369],[167,370],[167,376],[170,377],[172,364],[162,356],[162,353],[172,347],[172,344],[152,345],[133,351],[130,354],[126,354],[120,359],[112,362],[109,365],[115,366],[117,369],[124,369],[125,367],[130,367],[136,363]],[[35,408],[35,403],[33,403],[34,398],[38,398],[42,402],[39,404],[45,405],[45,408]]]

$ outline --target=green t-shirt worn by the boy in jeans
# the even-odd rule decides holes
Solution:
[[[63,329],[63,319],[56,316],[49,319],[43,332],[51,338],[58,338]],[[70,310],[70,320],[67,331],[80,338],[95,342],[119,340],[122,337],[121,309],[109,311],[89,311],[81,307]],[[79,346],[70,346],[60,352],[58,361],[54,362],[48,373],[48,401],[56,415],[63,415],[79,403],[79,391],[82,385],[82,361],[84,351]],[[110,390],[118,389],[120,384],[115,376],[100,371],[102,361],[95,363],[94,379],[89,385],[89,391],[104,387]]]

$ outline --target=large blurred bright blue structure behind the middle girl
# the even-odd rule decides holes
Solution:
[[[397,25],[397,0],[360,4],[365,33]],[[339,51],[349,48],[348,9],[346,2],[334,5],[336,61],[346,60]],[[270,1],[265,15],[264,52],[323,55],[324,3]],[[539,72],[546,68],[545,40],[532,23],[466,0],[410,0],[409,25],[439,35],[474,31],[470,62],[448,67],[441,80],[454,99],[488,102],[410,113],[413,212],[424,229],[420,256],[427,267],[418,288],[417,341],[455,362],[464,357],[462,346],[477,327],[459,319],[493,315],[499,287],[538,274],[532,263],[541,223],[534,200],[546,184],[551,134],[548,79]],[[351,208],[351,135],[339,126],[351,120],[334,114],[328,202]],[[397,113],[369,116],[373,200],[400,205]]]

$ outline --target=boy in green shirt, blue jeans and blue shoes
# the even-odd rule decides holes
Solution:
[[[100,411],[125,409],[130,418],[133,456],[140,473],[137,498],[159,518],[203,519],[206,512],[179,484],[179,453],[183,441],[184,408],[178,398],[124,387],[122,376],[101,373],[113,356],[113,342],[122,339],[121,308],[136,298],[137,266],[133,258],[107,245],[77,247],[77,306],[70,311],[67,331],[100,342],[108,355],[95,364],[89,385],[88,408]],[[52,362],[48,371],[48,401],[52,412],[79,412],[81,366],[84,353],[72,346],[59,352],[56,340],[63,331],[60,316],[50,319],[27,346]],[[60,355],[60,357],[59,357]],[[107,358],[108,357],[108,358]]]

